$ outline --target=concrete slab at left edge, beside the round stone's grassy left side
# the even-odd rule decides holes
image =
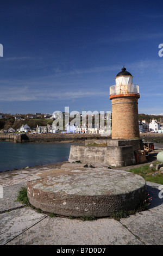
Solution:
[[[26,182],[3,187],[3,198],[0,198],[0,214],[4,211],[21,208],[23,204],[16,202],[18,191],[23,186],[27,186]]]

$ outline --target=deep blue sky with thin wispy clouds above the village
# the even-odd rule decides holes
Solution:
[[[163,1],[1,1],[0,112],[111,111],[125,65],[139,113],[163,114]]]

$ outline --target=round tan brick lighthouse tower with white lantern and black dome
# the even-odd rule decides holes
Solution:
[[[115,80],[115,86],[110,87],[112,139],[139,138],[139,86],[133,84],[133,76],[124,67]]]

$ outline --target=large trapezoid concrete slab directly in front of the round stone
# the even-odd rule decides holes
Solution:
[[[8,245],[143,245],[119,222],[45,218]]]

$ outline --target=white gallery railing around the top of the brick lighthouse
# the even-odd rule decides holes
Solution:
[[[139,94],[139,86],[133,83],[110,86],[110,96],[116,94]]]

